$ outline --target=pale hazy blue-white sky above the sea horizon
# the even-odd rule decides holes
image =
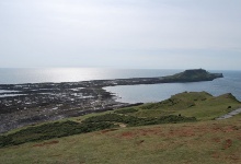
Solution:
[[[0,67],[241,69],[240,0],[0,0]]]

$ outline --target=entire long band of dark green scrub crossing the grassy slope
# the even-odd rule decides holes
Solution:
[[[147,126],[170,122],[196,121],[195,117],[163,116],[159,118],[138,118],[134,116],[106,114],[84,119],[81,124],[76,121],[50,122],[36,127],[28,127],[14,133],[0,136],[0,148],[18,145],[25,142],[43,141],[53,138],[67,137],[116,127],[116,122],[126,124],[129,127]]]

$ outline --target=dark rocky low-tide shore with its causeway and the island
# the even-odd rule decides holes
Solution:
[[[192,71],[204,73],[204,70]],[[187,70],[187,74],[192,71]],[[104,86],[210,81],[222,77],[220,73],[205,73],[206,77],[202,74],[196,79],[186,78],[184,72],[159,78],[0,84],[0,133],[47,120],[131,106],[116,102],[115,95],[106,92]]]

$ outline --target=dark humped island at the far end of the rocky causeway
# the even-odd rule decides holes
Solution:
[[[185,70],[174,75],[164,77],[164,82],[197,82],[211,81],[217,78],[223,78],[222,73],[209,73],[203,69]]]

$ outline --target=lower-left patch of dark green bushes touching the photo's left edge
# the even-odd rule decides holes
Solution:
[[[42,141],[53,138],[85,133],[113,127],[115,127],[115,125],[111,122],[79,124],[70,120],[45,124],[37,127],[28,127],[15,133],[0,136],[0,148],[7,145],[16,145],[31,141]]]

